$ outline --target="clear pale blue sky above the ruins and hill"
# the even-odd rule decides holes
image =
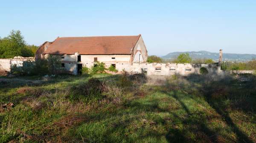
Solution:
[[[30,45],[142,34],[149,55],[256,54],[256,0],[0,0],[0,37],[11,30]]]

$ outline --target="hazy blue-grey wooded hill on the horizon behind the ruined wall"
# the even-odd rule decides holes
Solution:
[[[163,59],[176,59],[180,53],[189,53],[193,59],[207,58],[214,61],[218,61],[219,53],[212,53],[208,51],[191,51],[191,52],[172,52],[166,56],[162,56]],[[236,53],[223,53],[223,61],[250,61],[256,59],[256,54],[236,54]]]

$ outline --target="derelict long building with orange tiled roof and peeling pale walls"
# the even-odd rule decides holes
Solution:
[[[148,52],[141,35],[91,36],[58,37],[53,42],[44,42],[35,59],[48,55],[61,56],[62,67],[77,75],[82,67],[91,67],[97,61],[104,62],[107,67],[113,65],[119,71],[129,71],[132,64],[145,63]]]

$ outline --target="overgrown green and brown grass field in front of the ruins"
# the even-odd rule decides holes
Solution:
[[[249,78],[1,77],[0,142],[255,143]]]

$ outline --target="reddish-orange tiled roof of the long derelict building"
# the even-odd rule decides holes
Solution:
[[[131,54],[140,36],[59,37],[44,54]]]

